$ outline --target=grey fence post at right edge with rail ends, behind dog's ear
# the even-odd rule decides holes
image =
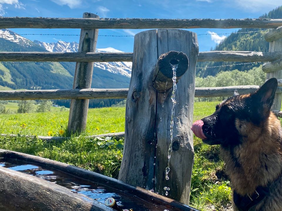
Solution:
[[[269,43],[269,52],[281,52],[282,51],[282,34],[281,34],[281,27],[277,29],[273,29],[264,35],[264,38]],[[262,70],[266,72],[266,79],[276,78],[282,79],[282,63],[281,59],[278,59],[273,62],[267,62],[263,64]],[[281,86],[281,84],[278,84]],[[277,93],[275,94],[272,110],[278,113],[281,110],[281,101],[282,101],[282,94]]]

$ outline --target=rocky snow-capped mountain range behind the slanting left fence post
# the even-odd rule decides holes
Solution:
[[[58,42],[46,43],[40,42],[38,40],[34,40],[34,43],[40,45],[50,52],[77,52],[78,51],[78,43],[77,42],[64,42],[59,40]],[[108,48],[98,48],[96,52],[122,52],[120,50],[116,50],[112,47]],[[103,70],[107,70],[109,72],[115,74],[121,74],[127,77],[131,76],[131,68],[132,62],[95,62],[94,67],[98,67]]]

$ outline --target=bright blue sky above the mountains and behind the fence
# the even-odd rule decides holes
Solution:
[[[4,17],[81,18],[83,12],[101,18],[258,18],[282,5],[282,0],[0,0]],[[79,29],[11,29],[19,34],[72,34]],[[189,29],[197,34],[231,33],[237,29]],[[99,30],[99,35],[134,35],[142,30]],[[79,36],[23,35],[43,42],[78,42]],[[209,51],[224,35],[199,35],[199,50]],[[226,35],[228,36],[228,35]],[[98,37],[97,48],[133,51],[133,37]]]

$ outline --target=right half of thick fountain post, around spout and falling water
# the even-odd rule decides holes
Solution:
[[[192,125],[193,121],[194,77],[199,52],[197,35],[185,30],[161,29],[158,30],[157,36],[159,55],[167,49],[181,51],[189,59],[189,68],[179,79],[175,93],[177,103],[174,113],[169,180],[165,178],[165,169],[168,165],[168,149],[171,143],[172,89],[165,95],[164,93],[157,95],[155,191],[165,195],[164,187],[169,187],[168,197],[188,204],[194,161],[193,134],[189,130],[189,125]]]

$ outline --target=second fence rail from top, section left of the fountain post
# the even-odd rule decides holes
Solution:
[[[3,62],[132,62],[133,53],[0,52]]]

